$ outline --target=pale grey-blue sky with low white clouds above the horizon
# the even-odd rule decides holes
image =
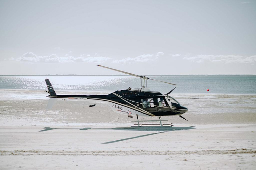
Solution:
[[[0,0],[0,74],[256,74],[256,0]]]

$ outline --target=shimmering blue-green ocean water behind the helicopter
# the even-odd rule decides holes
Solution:
[[[44,76],[0,77],[0,89],[46,90]],[[132,76],[47,76],[53,88],[67,91],[114,92],[141,87],[141,79]],[[177,84],[148,80],[151,91],[182,94],[256,94],[256,75],[175,75],[150,78]],[[209,89],[209,92],[207,92]]]

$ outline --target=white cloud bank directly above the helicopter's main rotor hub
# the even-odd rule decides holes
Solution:
[[[163,52],[158,52],[155,54],[143,54],[143,55],[139,55],[135,58],[132,57],[127,57],[127,58],[123,58],[121,60],[114,60],[112,61],[112,63],[136,63],[136,62],[148,62],[148,61],[154,61],[158,58],[159,55],[164,55]]]

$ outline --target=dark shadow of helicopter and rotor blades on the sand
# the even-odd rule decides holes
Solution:
[[[130,139],[135,139],[139,137],[146,137],[146,136],[151,136],[151,135],[156,135],[160,133],[165,133],[165,132],[170,132],[170,131],[177,131],[177,130],[189,130],[189,129],[196,129],[196,126],[189,126],[189,127],[168,127],[168,128],[163,128],[163,127],[152,127],[152,128],[145,128],[145,127],[118,127],[118,128],[50,128],[50,127],[45,127],[45,129],[40,130],[39,132],[44,132],[48,130],[53,130],[53,129],[65,129],[65,130],[131,130],[131,131],[155,131],[155,133],[150,133],[150,134],[145,134],[145,135],[139,135],[135,137],[128,137],[124,139],[119,139],[119,140],[114,140],[114,141],[109,141],[105,142],[102,144],[111,144],[111,143],[116,143],[116,142],[121,142],[125,140],[130,140]]]

